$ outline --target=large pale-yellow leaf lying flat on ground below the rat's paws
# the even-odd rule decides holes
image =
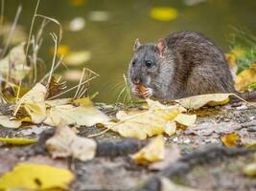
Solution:
[[[183,107],[175,105],[166,107],[165,109],[143,111],[139,114],[132,114],[127,117],[122,114],[123,118],[120,121],[108,123],[106,127],[112,131],[118,132],[125,138],[145,139],[164,133],[168,122],[183,111]],[[166,133],[168,132],[169,130],[167,130]]]

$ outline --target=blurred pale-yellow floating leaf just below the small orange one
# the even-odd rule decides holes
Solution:
[[[67,65],[78,66],[84,64],[91,59],[91,53],[88,51],[80,51],[69,53],[64,57],[64,62]]]

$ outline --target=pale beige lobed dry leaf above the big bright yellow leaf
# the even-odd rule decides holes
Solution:
[[[46,141],[46,148],[54,158],[93,159],[96,147],[93,139],[80,138],[67,126],[58,126],[55,136]]]

